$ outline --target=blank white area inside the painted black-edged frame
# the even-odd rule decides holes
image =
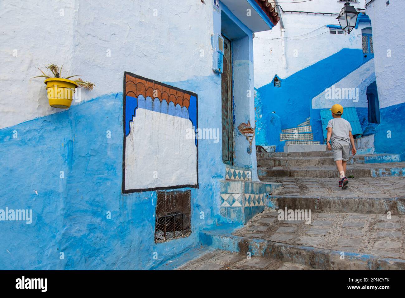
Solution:
[[[173,105],[173,103],[171,103]],[[125,189],[150,189],[197,184],[197,147],[188,137],[193,124],[160,111],[136,109],[125,146]],[[179,105],[175,115],[181,114]],[[187,113],[188,115],[188,113]],[[153,129],[151,129],[153,127]],[[194,134],[195,135],[195,134]]]

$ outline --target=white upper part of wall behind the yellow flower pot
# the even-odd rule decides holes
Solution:
[[[212,75],[211,4],[199,0],[52,3],[0,2],[0,128],[62,111],[49,106],[43,79],[30,79],[40,75],[37,68],[44,70],[45,64],[64,64],[64,75],[83,75],[96,84],[93,91],[81,92],[83,101],[122,92],[124,71],[158,81]]]

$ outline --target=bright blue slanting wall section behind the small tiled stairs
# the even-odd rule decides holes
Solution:
[[[297,124],[311,117],[314,140],[322,140],[322,126],[320,121],[317,121],[320,119],[319,110],[311,107],[313,97],[356,70],[371,58],[371,55],[364,58],[361,49],[342,49],[286,79],[281,79],[281,87],[279,88],[274,87],[273,81],[259,88],[260,109],[263,114],[260,126],[256,126],[256,133],[258,133],[258,127],[266,129],[266,131],[274,131],[274,128],[270,129],[273,125],[273,115],[270,115],[269,111],[275,111],[277,116],[280,117],[281,129],[296,127]],[[281,131],[278,133],[281,133]],[[277,137],[267,135],[264,142],[260,139],[262,143],[258,142],[257,144],[277,145],[277,150],[279,150],[282,148],[281,144],[274,143],[274,139],[277,138],[279,138],[279,135]]]

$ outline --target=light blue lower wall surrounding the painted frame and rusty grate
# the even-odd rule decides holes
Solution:
[[[216,79],[200,79],[200,86],[212,86]],[[196,83],[176,86],[195,88]],[[204,98],[212,89],[197,91],[202,107],[209,105]],[[208,118],[199,119],[199,124],[212,122]],[[224,178],[224,165],[215,154],[220,143],[202,140],[199,164],[205,166],[199,167],[200,188],[191,189],[192,234],[154,243],[156,192],[121,193],[122,93],[2,129],[0,139],[0,209],[33,211],[32,224],[0,222],[1,269],[155,268],[195,247],[200,229],[222,221],[215,200]]]

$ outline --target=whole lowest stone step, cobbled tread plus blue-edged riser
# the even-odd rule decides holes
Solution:
[[[403,215],[311,212],[298,221],[279,214],[267,209],[243,228],[203,231],[201,243],[313,269],[405,269]]]

